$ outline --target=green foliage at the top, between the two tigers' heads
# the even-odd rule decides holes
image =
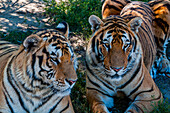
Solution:
[[[50,17],[49,22],[57,25],[66,21],[70,30],[83,33],[84,36],[91,34],[91,26],[88,22],[90,15],[101,17],[102,3],[99,0],[66,0],[59,3],[55,0],[44,0],[46,3],[46,15]]]

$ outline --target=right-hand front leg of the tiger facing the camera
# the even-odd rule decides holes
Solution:
[[[145,67],[144,67],[145,68]],[[133,100],[125,113],[150,113],[163,100],[162,93],[151,78],[149,71],[144,69],[144,80],[137,91],[130,96]]]

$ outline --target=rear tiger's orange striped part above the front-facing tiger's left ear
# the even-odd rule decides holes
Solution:
[[[121,10],[128,4],[131,0],[105,0],[102,5],[102,18],[105,19],[110,15],[120,15]]]

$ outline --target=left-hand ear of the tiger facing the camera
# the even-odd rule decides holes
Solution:
[[[89,17],[89,23],[93,32],[96,31],[100,25],[103,25],[103,21],[96,15],[91,15]]]

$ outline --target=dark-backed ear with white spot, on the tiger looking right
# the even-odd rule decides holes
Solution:
[[[60,31],[66,38],[69,35],[69,25],[67,22],[61,22],[57,25],[56,29]]]

